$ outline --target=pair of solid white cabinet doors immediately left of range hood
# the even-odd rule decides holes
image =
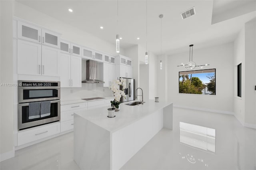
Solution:
[[[68,53],[60,53],[60,87],[82,87],[82,58]]]

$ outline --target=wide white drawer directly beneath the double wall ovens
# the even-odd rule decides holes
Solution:
[[[18,132],[18,146],[60,133],[60,123]]]

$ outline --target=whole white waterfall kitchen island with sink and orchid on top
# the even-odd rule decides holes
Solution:
[[[74,160],[81,170],[120,169],[159,130],[172,130],[172,103],[125,104],[114,118],[107,117],[110,107],[75,112]]]

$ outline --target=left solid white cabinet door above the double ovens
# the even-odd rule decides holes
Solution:
[[[41,45],[18,40],[18,74],[41,75]]]

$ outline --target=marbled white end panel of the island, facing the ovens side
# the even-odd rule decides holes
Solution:
[[[74,161],[84,169],[110,169],[110,132],[74,114]]]

